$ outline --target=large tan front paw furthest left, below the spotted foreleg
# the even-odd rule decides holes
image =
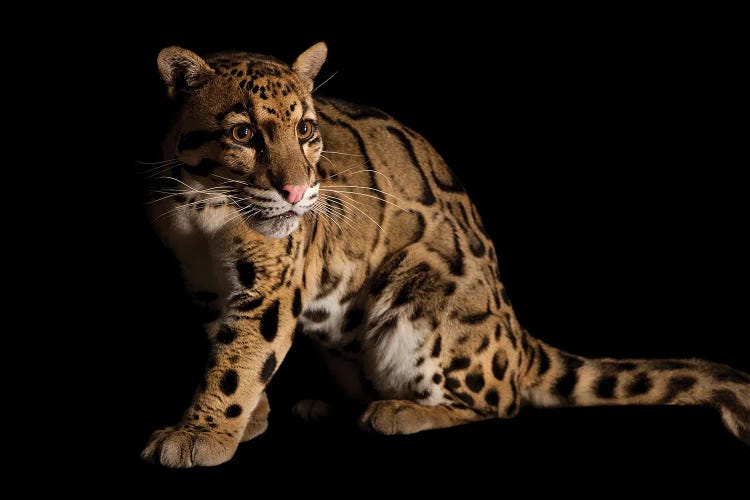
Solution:
[[[216,432],[167,427],[151,434],[141,458],[174,468],[218,465],[234,456],[238,444]]]

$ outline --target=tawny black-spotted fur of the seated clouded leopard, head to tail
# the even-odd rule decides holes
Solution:
[[[476,207],[433,148],[379,110],[313,99],[325,56],[322,43],[292,66],[159,54],[177,115],[151,215],[212,347],[190,407],[153,434],[145,458],[214,465],[262,433],[264,391],[295,332],[321,344],[344,392],[365,405],[362,425],[384,434],[508,418],[524,404],[700,404],[750,444],[745,373],[586,359],[531,337]],[[253,135],[238,142],[243,124]],[[298,201],[289,185],[306,187]]]

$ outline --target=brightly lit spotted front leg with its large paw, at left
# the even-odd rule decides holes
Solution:
[[[286,279],[261,282],[264,272]],[[211,354],[190,408],[176,426],[152,434],[144,459],[168,467],[217,465],[265,431],[264,391],[291,346],[301,309],[300,289],[285,286],[295,274],[255,265],[253,286],[228,300],[209,331]]]

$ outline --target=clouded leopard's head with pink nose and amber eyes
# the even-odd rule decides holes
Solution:
[[[283,238],[313,207],[323,141],[313,79],[327,54],[317,43],[291,66],[250,53],[203,59],[163,49],[159,72],[176,104],[164,142],[193,189],[225,195],[257,232]]]

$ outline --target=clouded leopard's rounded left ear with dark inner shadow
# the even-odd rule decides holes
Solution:
[[[215,74],[200,56],[182,47],[162,49],[156,64],[171,97],[177,92],[194,92]]]

